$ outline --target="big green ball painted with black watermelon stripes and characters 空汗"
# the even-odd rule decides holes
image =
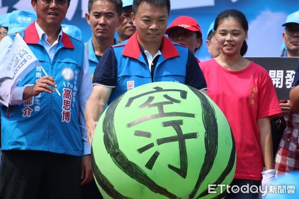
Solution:
[[[198,90],[156,82],[130,90],[101,116],[92,168],[105,199],[223,198],[235,143],[219,107]]]

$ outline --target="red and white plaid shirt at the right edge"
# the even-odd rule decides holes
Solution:
[[[278,175],[299,170],[299,114],[291,112],[285,120],[287,128],[275,158],[275,169]]]

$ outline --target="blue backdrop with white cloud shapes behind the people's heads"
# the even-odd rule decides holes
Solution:
[[[299,10],[299,0],[170,0],[168,25],[179,15],[195,18],[201,26],[203,45],[196,56],[210,59],[205,42],[207,30],[217,14],[228,8],[242,11],[249,22],[248,51],[245,57],[277,57],[283,42],[281,26],[287,16]],[[88,0],[71,0],[64,23],[78,26],[83,42],[91,37],[90,26],[85,19]],[[0,0],[0,14],[12,10],[32,9],[30,0]]]

